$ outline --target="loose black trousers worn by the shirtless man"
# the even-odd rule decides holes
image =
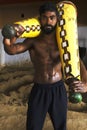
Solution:
[[[62,80],[34,84],[29,97],[26,130],[42,130],[47,112],[55,130],[66,130],[67,93]]]

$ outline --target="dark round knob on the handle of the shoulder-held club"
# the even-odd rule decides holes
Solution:
[[[2,28],[2,35],[5,38],[11,39],[12,37],[14,37],[16,35],[16,30],[14,29],[13,26],[6,24]]]

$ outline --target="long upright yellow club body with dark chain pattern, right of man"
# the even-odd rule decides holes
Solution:
[[[80,60],[77,32],[77,10],[70,1],[57,4],[60,20],[56,36],[61,57],[64,79],[80,79]]]

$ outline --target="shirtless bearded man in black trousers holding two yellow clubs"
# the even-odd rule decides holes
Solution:
[[[42,130],[47,112],[55,130],[66,130],[67,94],[55,33],[58,21],[56,5],[42,5],[39,14],[41,34],[17,44],[16,37],[4,38],[4,49],[10,55],[28,50],[35,68],[34,86],[28,103],[27,130]]]

